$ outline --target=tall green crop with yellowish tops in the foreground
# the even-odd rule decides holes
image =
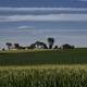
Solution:
[[[0,87],[87,87],[87,65],[1,66]]]

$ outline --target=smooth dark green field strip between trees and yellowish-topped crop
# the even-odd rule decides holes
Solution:
[[[1,51],[0,65],[86,64],[87,49]]]

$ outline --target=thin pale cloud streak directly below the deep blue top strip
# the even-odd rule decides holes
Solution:
[[[87,0],[82,0],[87,1]],[[87,11],[86,8],[0,8],[0,11]]]

